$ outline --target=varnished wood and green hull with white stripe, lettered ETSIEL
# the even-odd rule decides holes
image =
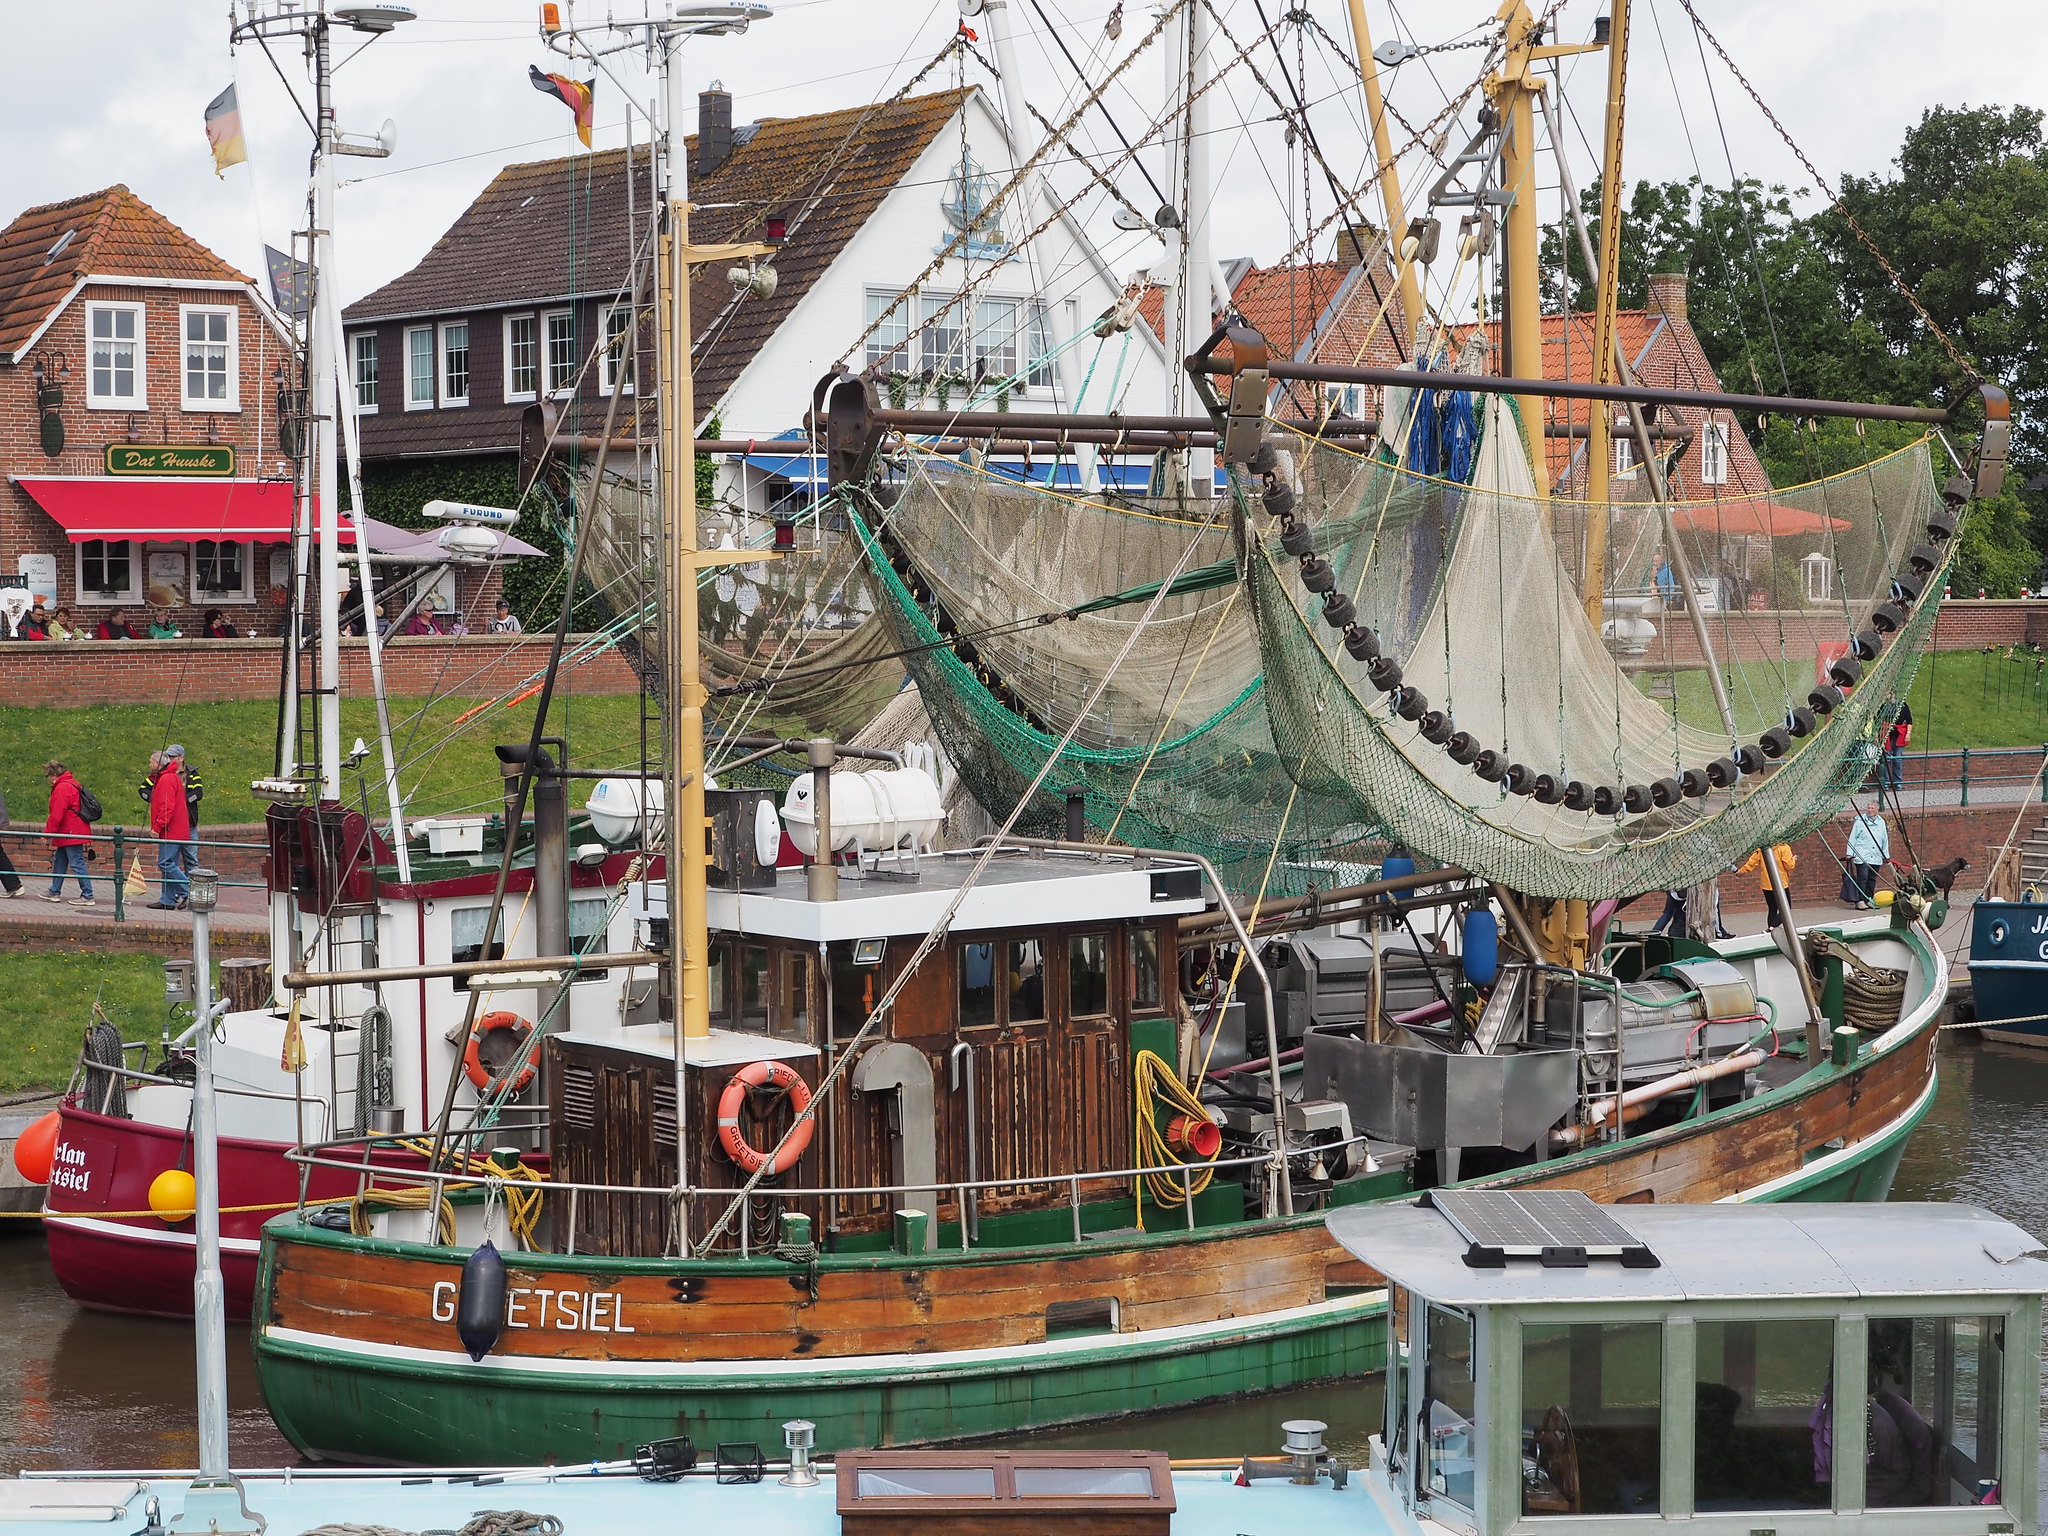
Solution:
[[[1933,1100],[1935,1012],[1698,1120],[1536,1163],[1495,1188],[1597,1200],[1882,1200]],[[508,1255],[508,1327],[455,1339],[461,1247],[264,1229],[264,1401],[315,1458],[608,1458],[676,1434],[918,1444],[1200,1403],[1372,1368],[1382,1296],[1321,1217],[1075,1247],[782,1260]],[[563,1296],[569,1300],[565,1303]],[[1053,1300],[1116,1331],[1047,1339]]]

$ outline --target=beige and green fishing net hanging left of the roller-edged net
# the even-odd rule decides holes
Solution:
[[[1028,834],[1059,836],[1079,793],[1118,842],[1200,852],[1233,889],[1255,889],[1272,862],[1272,891],[1331,885],[1333,860],[1378,836],[1350,795],[1296,786],[1276,756],[1225,500],[1096,502],[911,459],[895,504],[868,518],[881,612],[899,645],[928,647],[907,668],[993,815],[1079,719],[1026,807]]]

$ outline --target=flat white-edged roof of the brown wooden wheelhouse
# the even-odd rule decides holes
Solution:
[[[774,887],[711,891],[711,928],[811,944],[854,938],[924,936],[979,862],[979,850],[885,858],[879,870],[840,872],[836,901],[811,901],[805,870],[776,870]],[[649,909],[662,913],[662,891]],[[1165,918],[1202,911],[1202,868],[1186,858],[1001,850],[952,913],[956,936],[977,930],[1065,928],[1071,924]]]

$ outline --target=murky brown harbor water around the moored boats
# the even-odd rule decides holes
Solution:
[[[1892,1198],[1968,1200],[2048,1239],[2042,1167],[2048,1167],[2048,1051],[1978,1044],[1968,1032],[1944,1036],[1942,1085],[1907,1149]],[[23,1229],[0,1231],[0,1475],[41,1466],[193,1466],[199,1450],[190,1325],[76,1309],[49,1278],[33,1223],[0,1227]],[[231,1329],[227,1362],[233,1462],[295,1462],[258,1401],[246,1329]],[[1278,1450],[1280,1421],[1311,1417],[1329,1423],[1333,1450],[1362,1458],[1378,1413],[1376,1384],[1350,1382],[1044,1432],[1030,1442],[1237,1456]]]

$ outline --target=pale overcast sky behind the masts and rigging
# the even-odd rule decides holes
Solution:
[[[653,0],[610,0],[616,14],[641,14]],[[1255,14],[1288,8],[1288,0],[1225,0],[1225,25],[1239,43],[1260,31]],[[2042,0],[1696,0],[1735,61],[1753,80],[1780,121],[1821,172],[1880,172],[1901,133],[1931,104],[2048,102],[2048,29]],[[518,160],[575,150],[569,115],[526,82],[526,66],[588,74],[551,55],[535,29],[537,6],[514,0],[416,0],[420,18],[377,41],[338,74],[342,125],[375,131],[397,123],[397,154],[387,162],[342,162],[340,283],[352,299],[412,266],[461,213],[492,174]],[[1491,18],[1493,0],[1366,0],[1374,41],[1409,35],[1452,41],[1475,35]],[[272,45],[276,68],[262,49],[227,41],[219,0],[61,0],[8,6],[6,90],[0,125],[12,152],[0,158],[0,217],[111,182],[127,182],[199,240],[244,270],[260,270],[260,246],[285,246],[305,199],[307,129],[285,82],[303,98],[305,68],[289,45]],[[1040,106],[1075,100],[1073,74],[1053,51],[1042,16],[1061,31],[1077,59],[1118,57],[1153,20],[1145,0],[1130,0],[1122,43],[1110,45],[1104,23],[1110,0],[1012,0],[1014,29],[1028,96]],[[1307,10],[1350,47],[1343,0],[1307,0]],[[1589,35],[1606,0],[1567,0],[1565,41]],[[584,16],[604,6],[580,6]],[[899,88],[958,25],[958,0],[791,0],[745,37],[690,43],[692,88],[711,78],[735,94],[735,121],[793,117],[836,106],[860,106]],[[1757,109],[1718,59],[1704,59],[1677,0],[1636,0],[1636,43],[1630,66],[1630,178],[1690,176],[1724,182],[1737,170],[1765,180],[1804,184]],[[987,35],[985,23],[977,23]],[[1303,57],[1311,123],[1323,156],[1339,176],[1364,166],[1356,90],[1339,86],[1329,43],[1288,29],[1288,68]],[[342,35],[340,53],[354,39]],[[1217,39],[1217,55],[1229,49]],[[1427,123],[1444,106],[1444,90],[1462,90],[1477,74],[1481,51],[1446,51],[1401,66],[1389,94],[1407,121]],[[1270,49],[1255,53],[1278,84]],[[631,55],[608,61],[645,98],[651,84]],[[1710,63],[1710,68],[1708,68]],[[281,78],[283,76],[283,78]],[[971,82],[985,76],[969,68]],[[1100,78],[1100,66],[1094,70]],[[201,113],[229,80],[240,84],[250,164],[215,178]],[[932,86],[952,84],[950,66]],[[1708,92],[1712,86],[1712,96]],[[1579,61],[1567,72],[1565,96],[1585,139],[1597,145],[1604,66]],[[1163,94],[1163,66],[1141,59],[1108,94],[1118,125],[1139,139]],[[1212,96],[1219,221],[1217,254],[1274,260],[1288,248],[1288,223],[1303,217],[1303,168],[1282,143],[1274,106],[1245,72]],[[1718,109],[1718,113],[1716,113]],[[1057,113],[1063,115],[1063,113]],[[694,125],[692,125],[694,127]],[[610,80],[598,84],[598,145],[623,143],[627,111]],[[637,133],[645,137],[645,123]],[[1110,127],[1092,119],[1092,145],[1110,145]],[[1726,137],[1726,150],[1722,147]],[[1407,135],[1397,131],[1397,143]],[[1456,135],[1462,143],[1462,131]],[[1567,129],[1577,152],[1577,176],[1591,174],[1591,152]],[[1452,147],[1458,147],[1456,143]],[[1161,176],[1157,145],[1143,150]],[[999,168],[995,168],[999,170]],[[1409,164],[1411,182],[1425,180]],[[1061,184],[1079,184],[1067,168]],[[1116,174],[1120,188],[1147,211],[1155,199],[1135,170]],[[1309,217],[1321,219],[1331,195],[1315,172]],[[1554,217],[1554,201],[1544,217]],[[1145,264],[1157,246],[1149,236],[1106,231],[1118,268]]]

